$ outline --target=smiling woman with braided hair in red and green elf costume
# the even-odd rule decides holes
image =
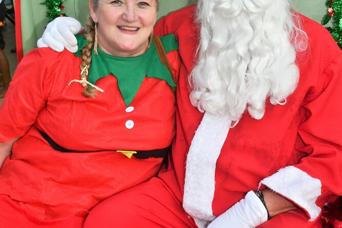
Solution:
[[[155,176],[171,144],[175,84],[152,40],[158,2],[89,8],[79,50],[28,53],[0,108],[2,228],[80,228],[99,201]],[[160,40],[177,75],[175,38]]]

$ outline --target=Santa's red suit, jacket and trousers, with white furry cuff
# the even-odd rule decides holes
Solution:
[[[194,16],[193,5],[162,18],[154,29],[158,35],[175,35],[182,58],[177,85],[177,133],[168,168],[158,175],[162,183],[153,178],[129,190],[131,194],[118,194],[104,201],[90,213],[85,228],[99,220],[108,224],[119,221],[117,227],[196,227],[191,211],[186,214],[180,206],[184,200],[187,152],[203,117],[189,100],[188,75],[195,64],[199,37]],[[267,101],[261,120],[245,113],[229,130],[214,170],[214,193],[202,193],[199,186],[190,186],[193,192],[202,194],[203,201],[213,194],[209,210],[215,216],[250,190],[262,190],[266,185],[300,209],[278,214],[258,227],[318,228],[322,227],[319,215],[323,205],[334,195],[342,195],[342,52],[325,28],[299,16],[309,37],[309,48],[297,54],[300,78],[295,92],[284,106]],[[203,156],[210,156],[210,151]],[[202,176],[195,178],[208,181]],[[150,191],[151,185],[154,191]],[[171,199],[179,203],[169,203]],[[197,209],[204,210],[200,206]],[[180,223],[184,220],[188,221]]]

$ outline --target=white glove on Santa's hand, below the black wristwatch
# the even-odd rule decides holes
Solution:
[[[249,191],[245,199],[215,218],[208,228],[254,228],[266,221],[267,210],[264,204],[253,191]]]

